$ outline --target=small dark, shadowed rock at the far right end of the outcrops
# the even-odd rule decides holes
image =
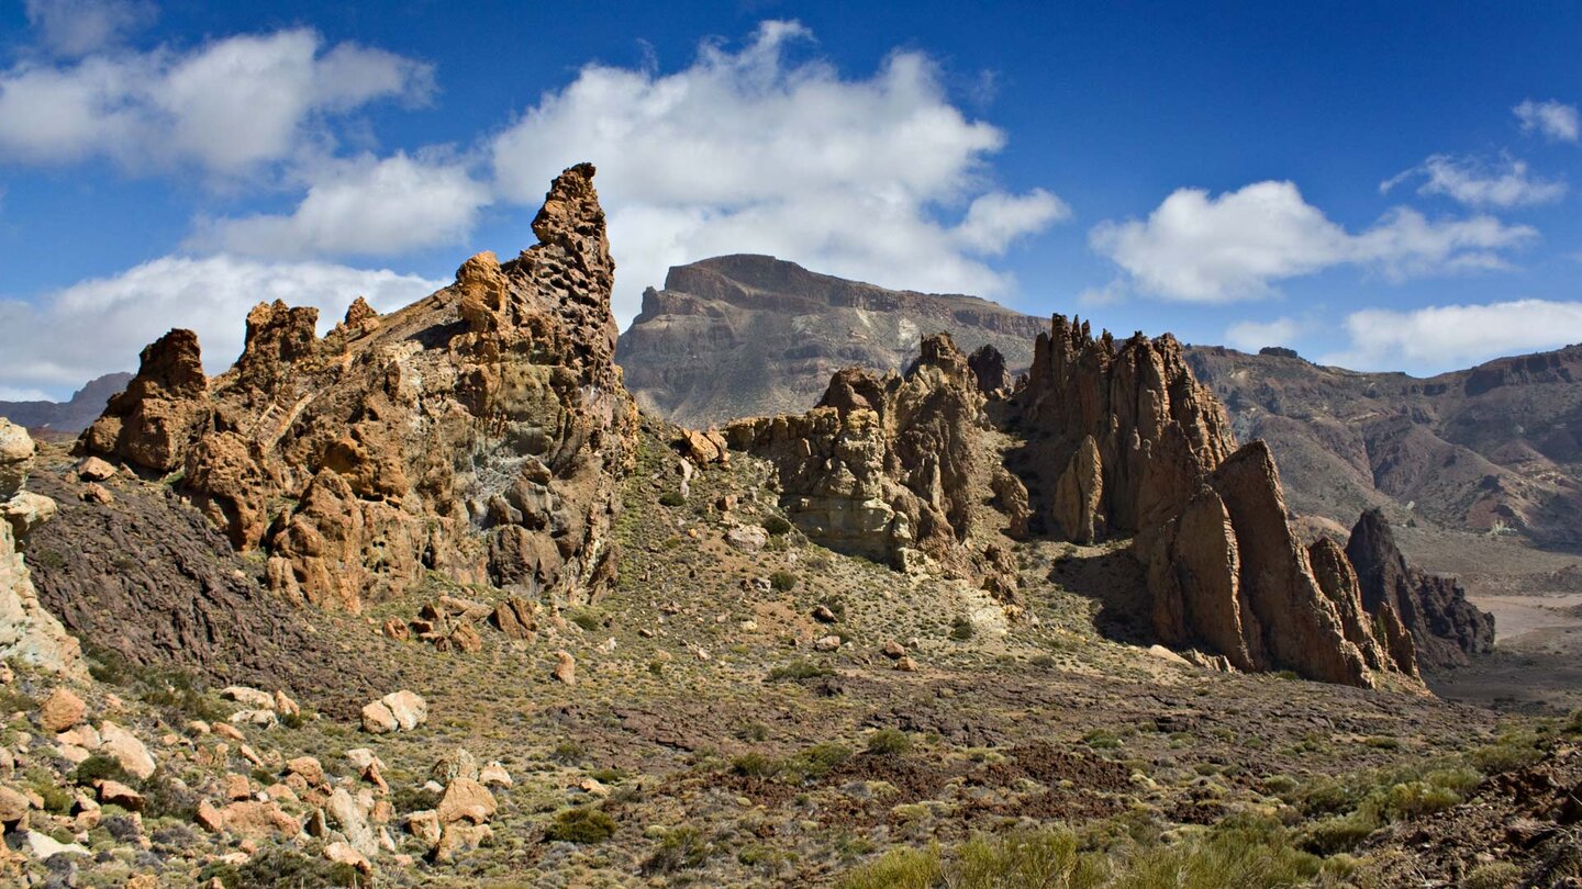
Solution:
[[[1425,666],[1465,664],[1467,655],[1493,649],[1493,615],[1467,601],[1467,590],[1454,577],[1406,565],[1381,511],[1362,513],[1346,555],[1356,566],[1364,606],[1400,615]]]

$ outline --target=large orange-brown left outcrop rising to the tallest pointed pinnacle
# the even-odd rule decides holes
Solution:
[[[356,611],[433,569],[585,601],[612,571],[636,429],[592,179],[555,179],[519,258],[479,253],[392,315],[359,302],[320,339],[316,310],[259,304],[214,380],[172,331],[79,449],[180,467],[182,494],[293,600]]]

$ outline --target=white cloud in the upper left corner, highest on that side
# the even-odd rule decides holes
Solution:
[[[0,160],[108,157],[128,169],[198,165],[239,176],[329,139],[326,120],[370,101],[422,101],[432,66],[312,30],[233,36],[191,52],[21,63],[0,74]]]

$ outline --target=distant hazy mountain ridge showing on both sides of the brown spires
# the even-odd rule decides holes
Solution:
[[[924,334],[993,343],[1012,370],[1049,323],[971,296],[889,291],[769,256],[671,269],[620,339],[639,402],[709,426],[799,411],[831,373],[903,369]],[[1240,440],[1270,443],[1292,509],[1349,528],[1367,508],[1397,520],[1509,528],[1582,549],[1582,346],[1419,380],[1319,367],[1291,350],[1190,346]]]

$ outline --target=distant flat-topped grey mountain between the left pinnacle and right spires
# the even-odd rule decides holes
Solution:
[[[843,367],[899,372],[918,340],[946,331],[963,351],[993,345],[1031,362],[1044,321],[971,296],[892,291],[772,256],[717,256],[671,269],[620,337],[626,386],[645,410],[706,429],[799,413]]]

